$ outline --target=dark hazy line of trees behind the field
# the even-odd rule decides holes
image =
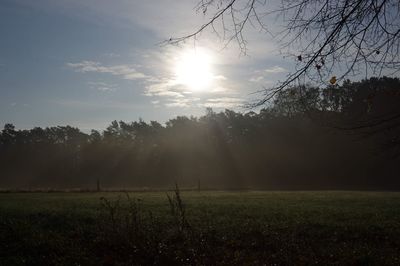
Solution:
[[[2,188],[399,189],[400,80],[279,92],[259,112],[0,133]]]

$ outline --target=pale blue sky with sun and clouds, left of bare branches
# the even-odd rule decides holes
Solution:
[[[290,68],[274,40],[246,30],[248,52],[210,31],[197,0],[2,0],[0,124],[104,129],[112,120],[161,123],[207,107],[246,111],[255,91]]]

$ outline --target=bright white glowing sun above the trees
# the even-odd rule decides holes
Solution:
[[[211,59],[211,55],[200,48],[182,52],[175,62],[176,83],[191,91],[207,90],[213,81]]]

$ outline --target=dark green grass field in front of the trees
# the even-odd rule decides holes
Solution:
[[[400,193],[1,193],[0,265],[399,265]]]

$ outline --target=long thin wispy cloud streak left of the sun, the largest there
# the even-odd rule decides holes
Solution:
[[[67,63],[67,66],[80,73],[109,73],[114,76],[120,76],[127,80],[146,79],[148,76],[138,70],[136,66],[132,65],[114,65],[104,66],[95,61],[81,61],[79,63]]]

